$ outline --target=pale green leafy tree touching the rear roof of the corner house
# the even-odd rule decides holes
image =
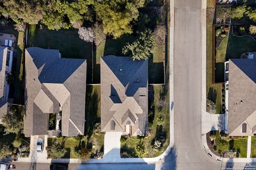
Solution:
[[[139,38],[132,44],[127,43],[123,47],[123,54],[131,56],[132,60],[146,60],[154,52],[153,32],[146,29],[139,32]]]

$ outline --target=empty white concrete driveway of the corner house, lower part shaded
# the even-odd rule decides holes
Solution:
[[[106,132],[104,137],[104,156],[103,159],[114,161],[120,159],[122,132]]]

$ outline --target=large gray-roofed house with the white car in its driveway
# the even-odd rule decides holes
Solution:
[[[61,58],[59,50],[26,49],[25,134],[47,134],[49,114],[59,112],[63,136],[84,134],[86,65],[86,60]]]

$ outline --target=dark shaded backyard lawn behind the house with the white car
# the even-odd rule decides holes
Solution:
[[[48,30],[47,27],[29,25],[28,47],[59,49],[63,58],[87,60],[87,83],[92,83],[92,43],[78,37],[77,29]]]

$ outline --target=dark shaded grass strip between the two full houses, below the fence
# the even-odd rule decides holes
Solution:
[[[92,86],[87,86],[86,88],[86,104],[85,104],[85,134],[90,140],[93,134],[94,124],[100,122],[100,117],[97,115],[98,105],[99,105],[99,94],[93,91]]]

